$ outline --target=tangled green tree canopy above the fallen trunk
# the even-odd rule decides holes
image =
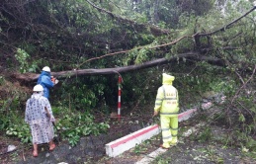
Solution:
[[[243,51],[255,56],[254,10],[243,1],[3,1],[1,65],[36,73],[43,65],[115,68],[176,56],[239,68]],[[195,55],[179,56],[188,52]]]

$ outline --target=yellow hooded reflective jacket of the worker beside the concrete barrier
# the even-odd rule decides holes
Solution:
[[[158,88],[154,111],[160,115],[177,117],[179,113],[178,91],[172,86],[174,76],[163,73],[163,85]]]

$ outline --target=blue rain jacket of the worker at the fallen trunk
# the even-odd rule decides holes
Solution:
[[[54,86],[54,83],[50,80],[50,73],[42,71],[39,79],[38,84],[43,86],[43,96],[48,99],[49,97],[49,88]]]

